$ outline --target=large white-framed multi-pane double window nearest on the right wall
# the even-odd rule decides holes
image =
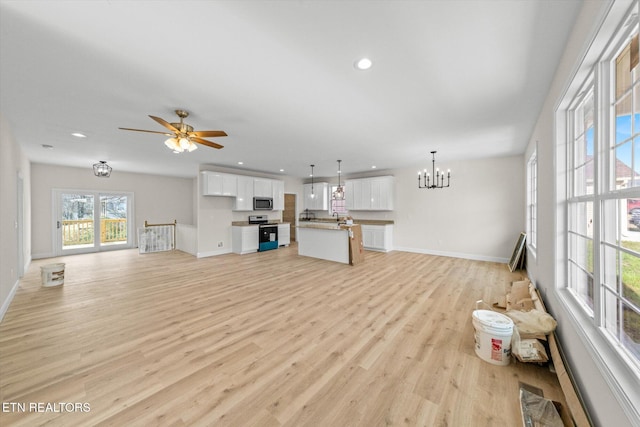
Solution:
[[[565,244],[571,294],[638,372],[640,67],[631,16],[567,109]]]

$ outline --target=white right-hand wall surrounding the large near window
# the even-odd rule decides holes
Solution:
[[[537,257],[528,257],[527,259],[528,274],[540,289],[547,309],[558,321],[557,333],[560,344],[566,352],[570,369],[575,375],[580,393],[595,425],[627,426],[632,425],[630,418],[625,415],[623,406],[613,391],[612,384],[603,374],[606,370],[613,369],[614,366],[605,368],[602,362],[597,362],[599,356],[596,356],[592,348],[583,340],[576,319],[561,302],[560,294],[564,281],[562,283],[556,282],[555,278],[556,263],[562,262],[564,255],[557,253],[556,249],[557,242],[563,239],[562,220],[556,219],[556,211],[558,207],[562,207],[563,203],[560,199],[556,201],[554,110],[574,75],[578,63],[585,55],[588,43],[591,42],[608,6],[608,2],[584,3],[540,117],[532,132],[522,167],[525,167],[530,153],[537,147],[538,247]],[[562,160],[558,161],[559,164],[562,164]],[[561,195],[559,197],[561,198]],[[592,329],[591,333],[594,336],[597,335],[597,331],[593,326],[590,326],[589,322],[584,322],[582,326],[587,330]],[[619,380],[625,382],[630,379],[621,377]],[[637,390],[637,384],[632,387],[636,387]],[[635,425],[639,425],[640,420],[635,419],[634,422]]]

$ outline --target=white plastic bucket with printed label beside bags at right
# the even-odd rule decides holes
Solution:
[[[495,311],[475,310],[472,323],[475,328],[476,354],[494,365],[508,365],[511,361],[513,320]]]

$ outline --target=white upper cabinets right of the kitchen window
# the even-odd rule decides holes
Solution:
[[[347,210],[354,211],[392,211],[392,176],[351,179],[345,183]]]

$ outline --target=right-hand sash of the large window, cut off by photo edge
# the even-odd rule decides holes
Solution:
[[[610,62],[611,134],[602,190],[601,326],[640,364],[640,67],[638,30]],[[608,182],[607,182],[608,179]]]

